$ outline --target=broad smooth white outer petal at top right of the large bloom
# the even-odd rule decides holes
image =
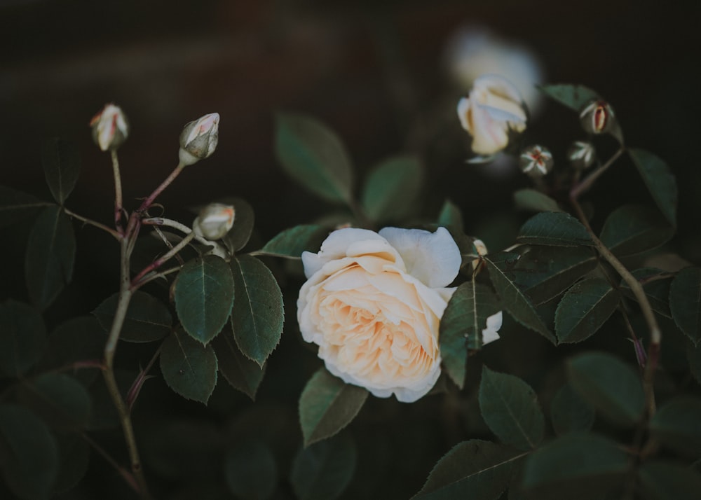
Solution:
[[[399,252],[407,273],[431,288],[448,286],[458,275],[461,255],[446,228],[383,228],[379,234]]]

